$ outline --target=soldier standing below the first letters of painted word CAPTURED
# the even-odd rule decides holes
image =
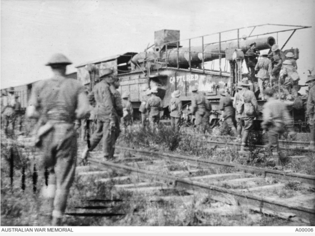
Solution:
[[[179,132],[180,119],[183,116],[183,106],[182,101],[179,96],[182,94],[180,90],[175,90],[172,92],[172,98],[169,103],[169,111],[171,116],[171,128],[175,132]]]

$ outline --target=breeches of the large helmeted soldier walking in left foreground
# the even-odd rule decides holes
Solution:
[[[42,194],[46,199],[54,199],[53,216],[62,217],[76,167],[77,137],[73,124],[56,124],[41,138],[40,150]]]

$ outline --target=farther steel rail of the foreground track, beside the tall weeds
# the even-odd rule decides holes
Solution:
[[[189,161],[194,164],[198,163],[201,165],[206,165],[209,167],[213,166],[219,166],[219,167],[231,167],[236,170],[243,170],[246,173],[252,173],[252,174],[260,174],[263,177],[279,177],[286,180],[295,180],[300,181],[302,183],[308,183],[313,184],[315,186],[315,176],[311,175],[304,175],[304,174],[297,174],[297,173],[286,173],[283,171],[276,171],[276,170],[270,170],[266,168],[258,168],[258,167],[251,167],[251,166],[245,166],[235,163],[228,163],[228,162],[220,162],[220,161],[212,161],[212,160],[202,160],[194,157],[189,157],[185,155],[178,155],[178,154],[170,154],[165,152],[154,152],[154,151],[147,151],[147,150],[140,150],[140,149],[134,149],[134,148],[125,148],[117,146],[116,148],[120,150],[126,150],[131,153],[136,154],[143,154],[145,156],[154,156],[154,157],[168,157],[168,158],[174,158],[181,161]]]

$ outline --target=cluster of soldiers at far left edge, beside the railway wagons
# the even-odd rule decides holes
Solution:
[[[23,111],[18,99],[19,95],[13,87],[1,91],[1,128],[6,137],[15,134],[16,124],[19,132],[22,132]]]

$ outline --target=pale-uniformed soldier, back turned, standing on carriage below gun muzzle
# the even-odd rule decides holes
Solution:
[[[258,60],[258,63],[255,66],[255,71],[258,71],[258,85],[261,94],[261,100],[264,98],[264,86],[270,87],[270,80],[272,79],[272,63],[271,60],[267,58],[268,53],[263,53],[262,58]]]

